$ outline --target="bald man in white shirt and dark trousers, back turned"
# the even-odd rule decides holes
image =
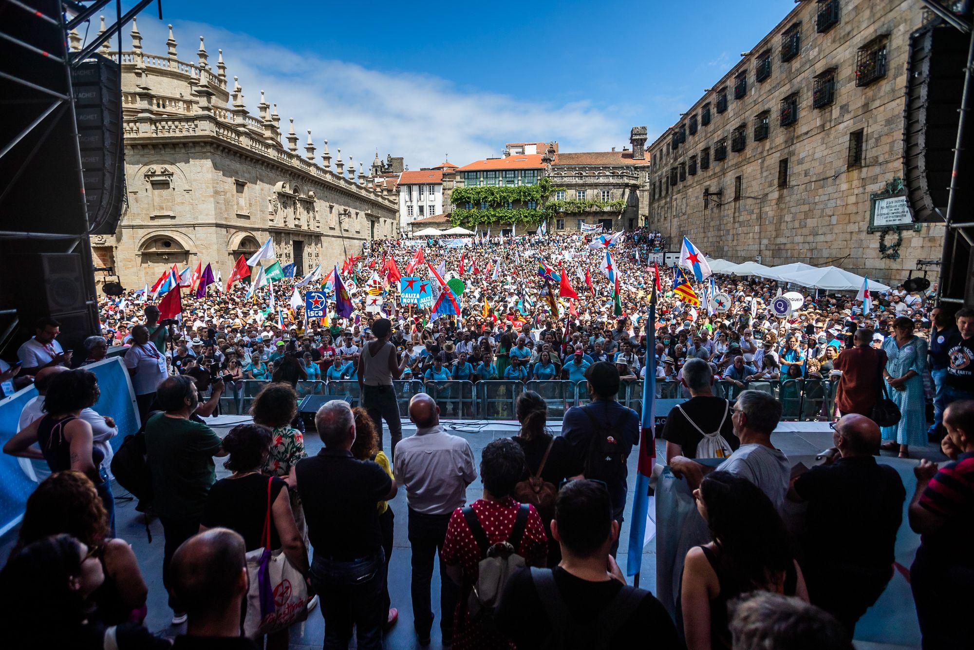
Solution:
[[[453,511],[467,504],[467,486],[477,478],[467,440],[451,436],[439,425],[439,406],[420,393],[409,401],[409,419],[416,434],[395,445],[395,482],[406,488],[409,503],[409,544],[412,547],[413,627],[421,644],[430,642],[432,564],[443,547]],[[443,639],[453,639],[453,610],[459,591],[440,561],[440,620]]]

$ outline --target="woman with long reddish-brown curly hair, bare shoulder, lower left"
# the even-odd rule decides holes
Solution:
[[[85,544],[101,563],[104,582],[89,598],[91,618],[106,626],[145,618],[149,593],[131,546],[108,534],[108,515],[91,479],[81,472],[56,472],[27,498],[17,545],[11,557],[37,540],[67,533]]]

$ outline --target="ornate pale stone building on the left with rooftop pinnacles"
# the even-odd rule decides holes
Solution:
[[[198,262],[227,280],[268,237],[281,264],[301,274],[396,234],[395,192],[361,163],[356,175],[340,149],[332,160],[327,140],[318,164],[311,132],[299,149],[293,120],[281,138],[277,105],[263,93],[251,115],[222,51],[214,69],[201,37],[197,60],[181,60],[170,27],[167,54],[150,55],[134,20],[131,39],[128,52],[102,48],[122,64],[126,202],[115,235],[92,238],[95,263],[114,267],[126,287]],[[371,169],[396,163],[377,154]]]

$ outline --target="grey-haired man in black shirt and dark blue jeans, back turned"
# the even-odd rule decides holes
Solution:
[[[381,648],[389,612],[376,505],[397,488],[376,463],[352,456],[356,419],[348,402],[326,402],[315,428],[324,448],[299,461],[295,475],[315,549],[311,584],[321,597],[324,648],[348,648],[353,627],[358,648]]]

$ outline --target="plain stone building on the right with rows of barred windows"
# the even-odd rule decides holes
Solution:
[[[800,2],[650,145],[650,224],[715,258],[887,282],[939,258],[939,224],[871,227],[871,195],[904,177],[910,38],[928,18],[907,0]]]

